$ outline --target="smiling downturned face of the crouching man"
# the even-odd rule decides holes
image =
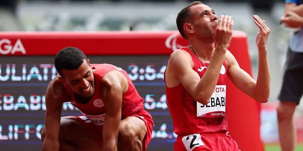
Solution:
[[[92,97],[95,92],[93,70],[89,66],[89,60],[75,70],[62,69],[63,84],[68,85],[73,92],[82,97]],[[62,80],[61,80],[62,81]]]

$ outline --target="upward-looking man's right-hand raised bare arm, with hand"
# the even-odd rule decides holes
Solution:
[[[241,91],[249,95],[260,103],[266,103],[269,98],[270,88],[270,72],[267,60],[266,41],[269,35],[269,28],[265,21],[258,16],[254,16],[255,24],[260,31],[257,35],[256,42],[259,51],[259,67],[257,82],[251,76],[240,68],[235,57],[228,51],[226,53],[226,63],[228,65],[228,78]]]

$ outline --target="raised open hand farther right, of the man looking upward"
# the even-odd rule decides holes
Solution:
[[[266,50],[266,42],[270,29],[266,26],[265,20],[262,20],[258,15],[254,15],[253,18],[255,19],[255,24],[260,29],[256,37],[258,50]]]

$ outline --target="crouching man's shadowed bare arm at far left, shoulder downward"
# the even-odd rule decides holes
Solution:
[[[58,80],[58,75],[48,84],[45,94],[45,139],[42,151],[59,150],[59,130],[62,103],[70,100],[64,85]]]

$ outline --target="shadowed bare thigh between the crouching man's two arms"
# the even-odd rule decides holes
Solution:
[[[92,135],[92,132],[76,117],[61,117],[59,138],[60,140],[74,145],[77,150],[102,150],[98,141]]]

